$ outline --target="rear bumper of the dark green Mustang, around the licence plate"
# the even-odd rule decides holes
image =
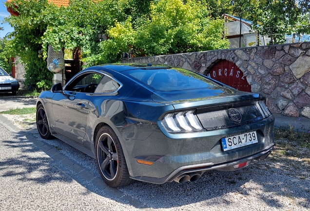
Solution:
[[[162,184],[187,173],[234,170],[234,165],[264,159],[275,144],[273,123],[271,115],[248,125],[170,137],[157,129],[144,141],[124,139],[122,145],[132,179]],[[258,143],[223,151],[221,138],[248,131],[256,131]]]

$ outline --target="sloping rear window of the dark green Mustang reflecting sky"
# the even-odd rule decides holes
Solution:
[[[135,69],[123,72],[135,81],[160,91],[211,88],[215,84],[192,71],[171,69]]]

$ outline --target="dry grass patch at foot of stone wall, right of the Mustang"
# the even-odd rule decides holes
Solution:
[[[289,141],[280,142],[285,145],[282,147],[290,147],[289,145],[294,142],[300,147],[310,148],[310,131],[297,131],[294,127],[274,127],[273,132],[275,140]]]

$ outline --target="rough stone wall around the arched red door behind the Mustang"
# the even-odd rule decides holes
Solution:
[[[272,113],[310,118],[310,42],[123,59],[157,63],[207,75],[221,60],[235,63],[252,92],[261,93]]]

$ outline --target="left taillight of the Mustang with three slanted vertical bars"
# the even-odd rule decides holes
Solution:
[[[165,129],[170,133],[177,132],[196,132],[205,130],[194,110],[169,113],[164,116],[162,123]]]

